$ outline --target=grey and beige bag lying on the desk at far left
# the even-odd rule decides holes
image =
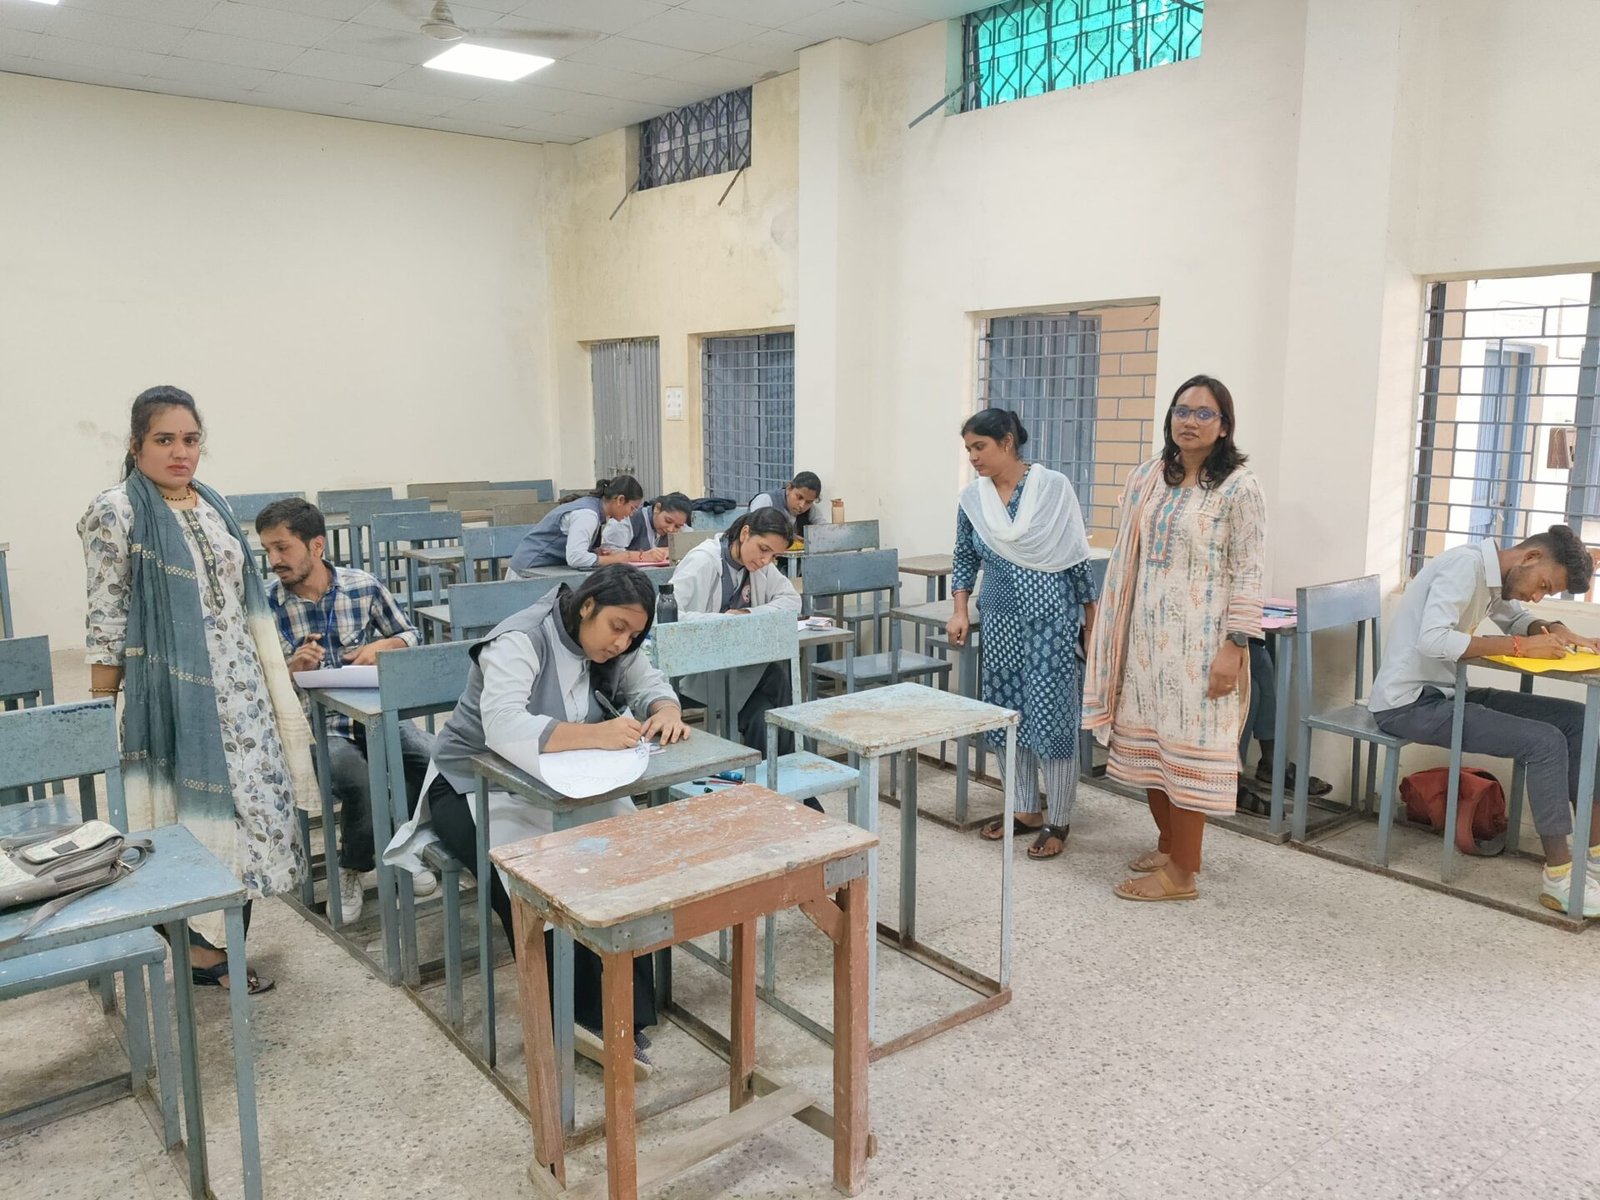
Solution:
[[[0,838],[0,912],[45,901],[18,934],[0,941],[0,949],[27,938],[78,896],[131,875],[149,854],[147,840],[130,838],[104,821]]]

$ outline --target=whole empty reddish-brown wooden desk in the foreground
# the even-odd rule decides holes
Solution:
[[[638,1195],[768,1125],[794,1117],[834,1139],[834,1186],[861,1190],[867,1160],[867,851],[878,838],[742,786],[494,850],[510,883],[528,1112],[544,1195]],[[834,942],[834,1112],[798,1088],[760,1096],[755,1070],[755,922],[798,907]],[[600,955],[605,1008],[606,1173],[566,1187],[544,922]],[[726,1117],[637,1155],[634,957],[733,928]],[[765,1080],[763,1080],[765,1082]]]

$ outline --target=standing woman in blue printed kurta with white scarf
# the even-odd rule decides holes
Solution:
[[[1021,714],[1016,832],[1037,834],[1030,858],[1062,851],[1077,795],[1082,635],[1094,616],[1094,576],[1072,485],[1024,462],[1027,430],[1014,413],[989,408],[962,427],[979,478],[955,518],[955,614],[949,634],[966,642],[968,597],[982,568],[984,699]],[[987,734],[1000,747],[1005,733]],[[1048,818],[1040,813],[1043,771]],[[982,837],[1005,835],[1002,821]]]

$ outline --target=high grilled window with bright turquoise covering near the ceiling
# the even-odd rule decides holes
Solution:
[[[962,109],[1198,56],[1205,0],[1008,0],[963,18]]]

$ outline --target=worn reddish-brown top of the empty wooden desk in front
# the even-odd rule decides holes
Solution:
[[[602,930],[821,862],[875,834],[744,784],[490,851],[568,928]]]

